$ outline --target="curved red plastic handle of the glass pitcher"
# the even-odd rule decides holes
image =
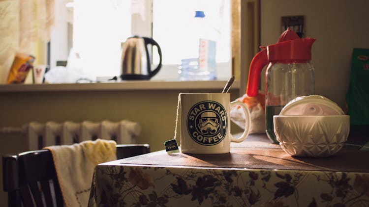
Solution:
[[[250,68],[248,70],[248,80],[246,94],[249,97],[255,97],[259,90],[260,74],[264,66],[268,64],[267,50],[258,52],[251,60]]]

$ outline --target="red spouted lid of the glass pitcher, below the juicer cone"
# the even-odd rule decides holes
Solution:
[[[311,60],[313,38],[303,38],[279,42],[267,47],[268,60]]]

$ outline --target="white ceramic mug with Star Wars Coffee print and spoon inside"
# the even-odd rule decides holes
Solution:
[[[222,154],[230,152],[230,142],[242,142],[250,129],[250,113],[245,103],[230,101],[229,93],[180,94],[181,152]],[[231,134],[230,108],[242,107],[246,127],[240,138]]]

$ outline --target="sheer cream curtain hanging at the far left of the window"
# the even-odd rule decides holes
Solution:
[[[54,0],[0,0],[0,83],[6,82],[16,52],[46,63],[45,43],[54,24]]]

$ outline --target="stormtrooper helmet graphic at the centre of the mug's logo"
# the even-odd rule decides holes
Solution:
[[[219,129],[218,118],[213,111],[204,111],[200,115],[197,127],[204,135],[215,134]]]

